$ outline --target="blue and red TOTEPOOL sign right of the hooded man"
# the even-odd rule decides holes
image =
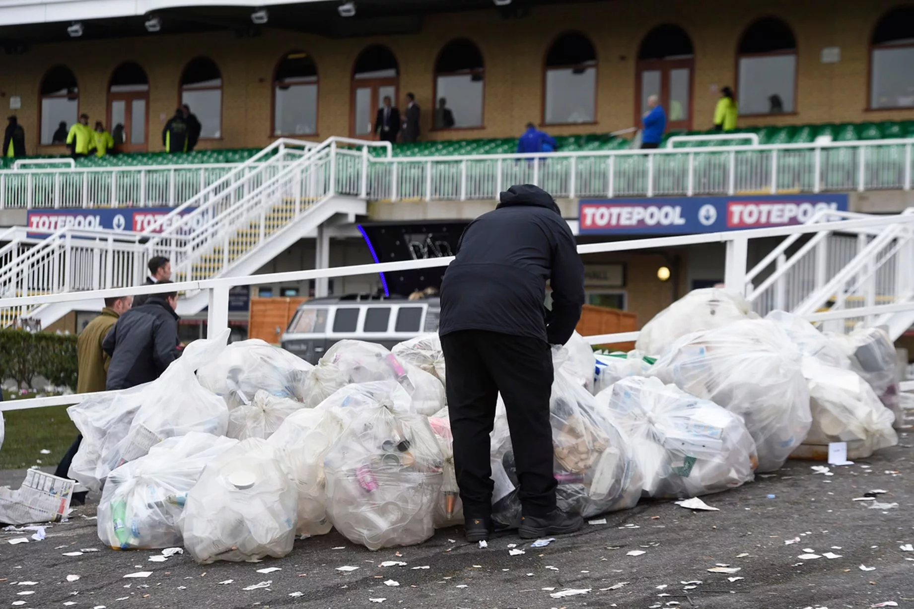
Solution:
[[[802,224],[847,195],[581,199],[580,234],[683,235]]]

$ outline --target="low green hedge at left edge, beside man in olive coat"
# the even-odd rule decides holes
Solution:
[[[41,376],[51,385],[75,390],[78,371],[76,336],[0,330],[0,380],[16,379],[23,388]]]

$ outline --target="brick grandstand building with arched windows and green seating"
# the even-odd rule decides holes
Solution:
[[[335,185],[312,193],[316,170],[303,169],[310,195],[299,180],[263,190],[266,208],[247,195],[220,203],[218,214],[249,203],[250,213],[232,217],[230,234],[210,227],[208,253],[177,265],[184,278],[448,255],[513,182],[553,192],[580,242],[782,226],[828,209],[898,212],[912,201],[914,5],[894,0],[7,0],[0,43],[0,106],[24,128],[28,156],[3,160],[0,227],[161,232],[156,219],[206,207],[225,176],[287,154],[256,156],[280,138],[374,140],[383,98],[403,114],[415,95],[418,142],[387,151],[341,141],[327,153],[334,161],[314,148]],[[739,104],[732,137],[671,143],[715,134],[724,87]],[[632,149],[651,95],[675,154]],[[184,103],[201,123],[197,149],[166,155],[165,123]],[[67,149],[56,132],[82,113],[120,125],[120,154],[58,163]],[[529,122],[557,138],[557,152],[514,155]],[[319,218],[300,220],[309,206]],[[182,230],[228,226],[208,213]],[[0,248],[19,239],[20,252],[49,239],[4,234]],[[754,247],[756,262],[771,251]],[[60,287],[16,283],[15,257],[2,252],[0,292]],[[588,256],[590,303],[643,324],[677,295],[721,282],[723,256],[717,245]],[[360,276],[260,295],[409,293],[439,280]],[[238,295],[239,325],[254,292]],[[202,323],[203,306],[183,313]],[[78,317],[57,319],[76,329]]]

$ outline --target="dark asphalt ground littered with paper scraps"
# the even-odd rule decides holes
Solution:
[[[904,433],[898,447],[832,467],[834,475],[813,472],[822,464],[790,461],[775,475],[704,497],[718,512],[644,501],[545,548],[505,534],[482,550],[452,528],[419,546],[371,552],[332,532],[296,541],[280,560],[197,565],[176,555],[152,562],[158,550],[104,547],[90,501],[69,522],[48,527],[45,540],[11,545],[31,531],[0,533],[0,607],[914,607],[914,549],[901,549],[914,544],[912,440]],[[11,475],[21,477],[0,478]],[[853,501],[870,490],[887,491],[875,501],[898,506]],[[525,553],[511,555],[509,544]],[[99,551],[63,555],[81,549]],[[808,553],[821,558],[798,558]],[[739,572],[708,572],[718,564]],[[358,569],[336,571],[345,565]],[[281,571],[258,572],[267,567]],[[140,571],[152,574],[123,577]],[[80,579],[68,582],[68,575]],[[270,583],[244,590],[259,582]],[[550,595],[566,589],[590,592]]]

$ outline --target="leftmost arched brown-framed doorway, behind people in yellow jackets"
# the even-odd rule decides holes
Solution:
[[[148,137],[149,78],[133,61],[122,63],[112,73],[108,86],[108,130],[114,144],[125,152],[145,152]]]

